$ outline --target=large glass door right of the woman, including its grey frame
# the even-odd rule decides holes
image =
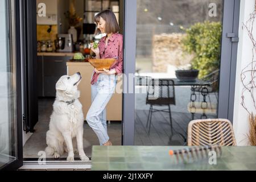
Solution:
[[[180,146],[187,144],[191,120],[232,120],[229,78],[237,41],[228,33],[238,31],[239,5],[236,0],[126,1],[123,144]]]

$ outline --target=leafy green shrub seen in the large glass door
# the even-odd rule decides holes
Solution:
[[[199,70],[199,78],[219,68],[222,27],[220,22],[196,23],[186,30],[183,49],[193,53],[192,69]]]

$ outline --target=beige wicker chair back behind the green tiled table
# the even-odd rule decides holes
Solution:
[[[236,146],[232,123],[228,119],[196,119],[188,124],[188,146]]]

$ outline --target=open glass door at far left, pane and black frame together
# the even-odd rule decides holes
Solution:
[[[14,1],[1,1],[0,34],[0,169],[18,168],[20,158],[20,76],[17,60],[16,14]],[[19,128],[18,128],[19,127]],[[18,135],[19,139],[18,140]]]

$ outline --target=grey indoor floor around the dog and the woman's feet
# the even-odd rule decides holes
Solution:
[[[27,140],[23,147],[24,158],[39,158],[38,152],[44,151],[46,148],[46,132],[49,128],[49,116],[52,113],[52,104],[54,99],[40,99],[39,100],[39,122],[36,123],[35,133]],[[108,125],[108,134],[114,145],[121,144],[121,122],[111,122]],[[98,138],[94,131],[87,123],[84,124],[84,150],[85,154],[90,158],[92,146],[98,145]],[[61,158],[66,158],[67,153],[64,153]],[[47,156],[52,158],[52,156]],[[79,158],[75,155],[75,158]]]

